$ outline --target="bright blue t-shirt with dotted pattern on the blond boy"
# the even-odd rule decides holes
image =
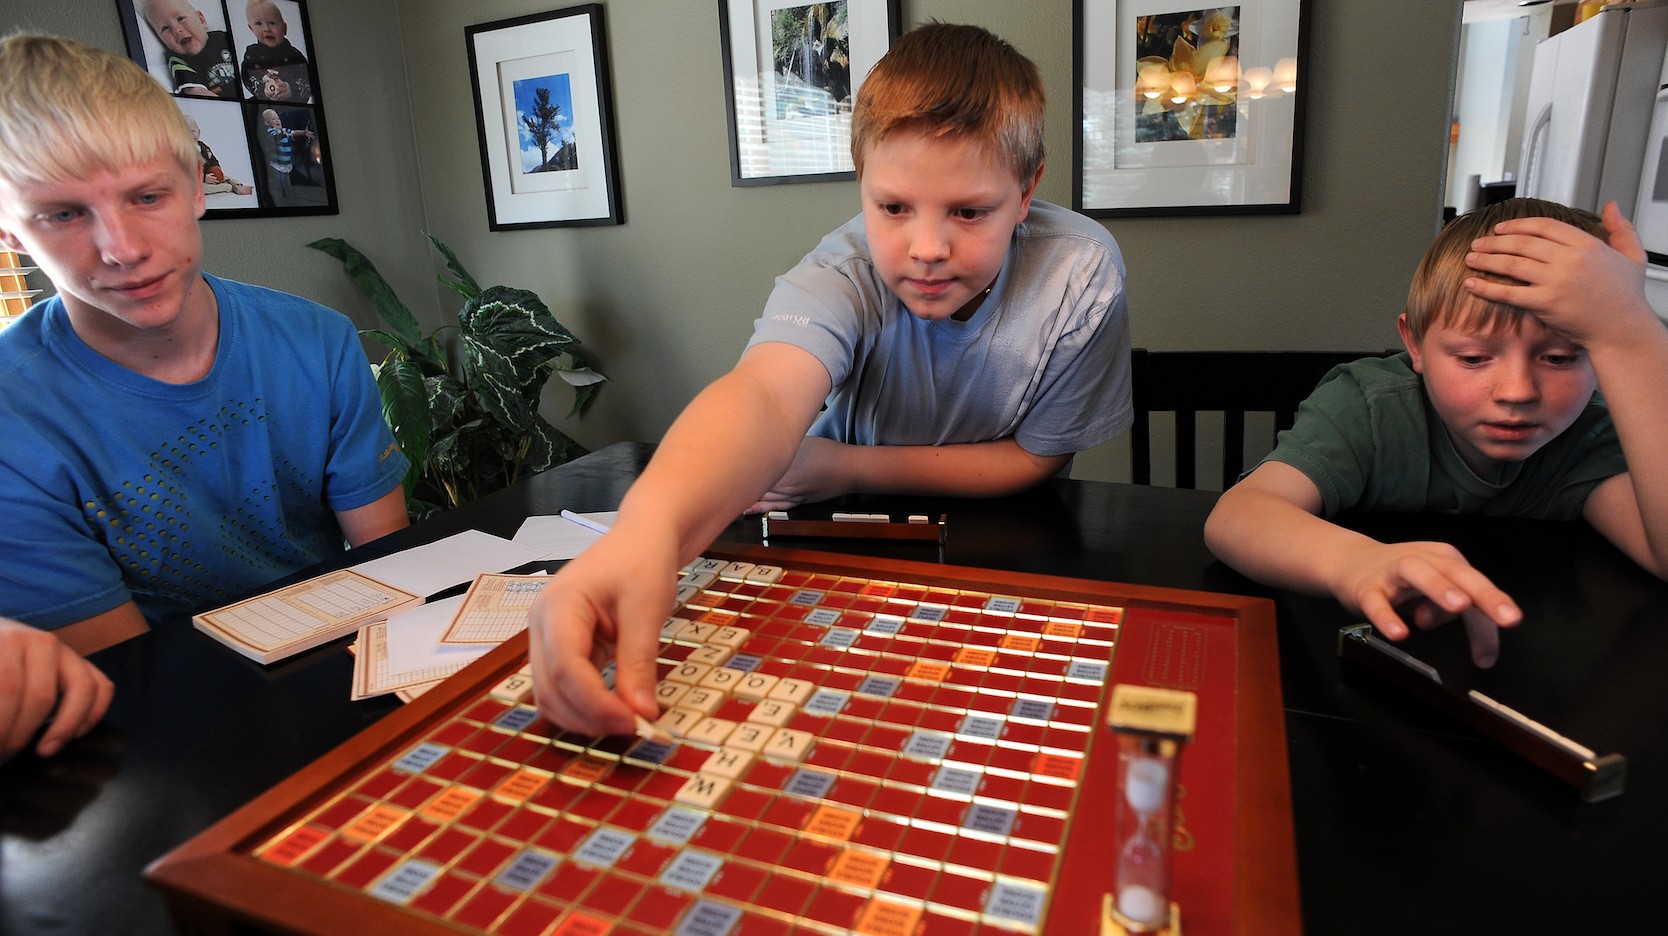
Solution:
[[[352,322],[203,277],[208,375],[163,384],[83,344],[58,297],[0,332],[0,614],[62,627],[132,597],[152,622],[342,551],[334,511],[405,474]]]

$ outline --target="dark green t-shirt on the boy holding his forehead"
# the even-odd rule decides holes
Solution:
[[[1284,462],[1339,511],[1438,511],[1573,521],[1606,477],[1628,471],[1605,402],[1521,462],[1480,477],[1454,450],[1408,354],[1334,367],[1264,460]]]

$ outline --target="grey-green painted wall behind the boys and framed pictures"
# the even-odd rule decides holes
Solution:
[[[1379,349],[1396,342],[1408,277],[1438,225],[1460,0],[1318,2],[1311,20],[1303,214],[1109,219],[1129,265],[1136,344],[1153,349]],[[550,0],[312,0],[309,13],[342,215],[215,220],[207,267],[367,320],[334,262],[340,235],[432,325],[419,230],[482,284],[535,290],[609,384],[580,420],[555,387],[545,412],[580,442],[657,439],[747,339],[772,277],[857,212],[851,182],[732,189],[719,13],[711,0],[609,0],[626,224],[489,232],[464,27]],[[83,8],[85,7],[85,8]],[[12,13],[10,10],[20,10]],[[113,3],[10,0],[7,25],[122,48]],[[904,25],[972,22],[1012,42],[1051,93],[1039,197],[1071,204],[1069,0],[902,0]],[[1128,477],[1124,442],[1078,477]]]

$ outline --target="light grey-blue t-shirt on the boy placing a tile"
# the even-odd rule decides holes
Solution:
[[[856,445],[1012,437],[1081,452],[1129,429],[1124,260],[1098,222],[1031,202],[966,322],[917,319],[874,269],[862,215],[776,280],[747,347],[787,342],[829,372],[812,435]]]

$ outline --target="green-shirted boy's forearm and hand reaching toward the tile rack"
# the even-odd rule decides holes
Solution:
[[[1518,606],[1444,542],[1384,544],[1319,517],[1321,492],[1284,462],[1264,462],[1229,487],[1204,522],[1204,542],[1246,577],[1306,594],[1329,594],[1384,637],[1408,626],[1398,604],[1429,629],[1460,617],[1471,659],[1493,666],[1500,627],[1523,619]]]

